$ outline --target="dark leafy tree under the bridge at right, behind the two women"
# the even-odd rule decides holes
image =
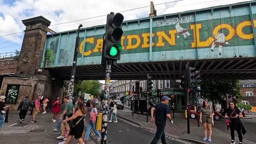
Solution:
[[[201,95],[212,101],[213,110],[215,103],[226,105],[226,94],[232,96],[234,101],[241,98],[239,81],[234,79],[203,79],[200,83]],[[226,109],[226,106],[225,108]]]

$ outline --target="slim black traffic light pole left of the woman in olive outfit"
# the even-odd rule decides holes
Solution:
[[[185,68],[185,75],[186,75],[186,81],[185,81],[185,91],[186,91],[186,95],[187,95],[187,129],[188,129],[188,134],[190,134],[190,122],[189,122],[189,92],[188,92],[188,88],[189,88],[189,71],[188,71],[188,62],[186,63],[186,68]]]

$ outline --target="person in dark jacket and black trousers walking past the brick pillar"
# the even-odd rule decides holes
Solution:
[[[20,105],[18,106],[18,110],[20,110],[19,116],[20,116],[20,123],[24,122],[24,119],[27,115],[27,111],[30,108],[31,102],[28,100],[28,96],[26,96],[26,99],[22,100],[20,102]]]

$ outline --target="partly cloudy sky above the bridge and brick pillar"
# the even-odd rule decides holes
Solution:
[[[20,51],[25,29],[21,20],[41,15],[51,21],[49,28],[55,32],[69,31],[76,29],[80,23],[83,27],[104,25],[106,15],[111,11],[123,14],[125,21],[148,17],[150,1],[0,0],[0,53]],[[153,0],[157,15],[245,1],[248,0]],[[71,22],[76,20],[82,21]]]

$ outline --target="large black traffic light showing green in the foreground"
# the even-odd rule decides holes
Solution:
[[[106,33],[103,39],[102,56],[110,60],[120,60],[120,52],[123,46],[120,39],[123,35],[122,23],[124,16],[120,13],[114,14],[111,12],[107,15]]]

